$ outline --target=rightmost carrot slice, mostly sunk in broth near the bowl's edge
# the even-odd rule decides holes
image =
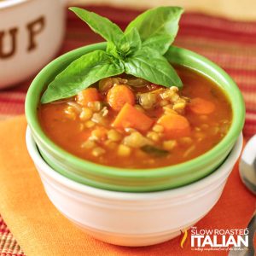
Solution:
[[[214,103],[202,98],[194,98],[189,103],[189,109],[197,114],[209,114],[215,110]]]

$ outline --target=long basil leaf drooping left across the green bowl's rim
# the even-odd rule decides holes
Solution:
[[[103,50],[95,50],[82,55],[58,74],[41,98],[42,103],[76,95],[80,90],[100,79],[124,72],[123,64]]]

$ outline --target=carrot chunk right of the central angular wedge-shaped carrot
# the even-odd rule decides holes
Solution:
[[[168,139],[189,136],[191,132],[188,119],[180,114],[165,114],[158,119],[157,123],[164,127],[164,134]]]

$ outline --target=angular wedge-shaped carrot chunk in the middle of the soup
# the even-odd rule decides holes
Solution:
[[[148,131],[153,125],[154,121],[150,119],[145,113],[137,110],[129,103],[120,110],[119,114],[113,121],[113,127],[116,128],[134,128],[138,131]]]

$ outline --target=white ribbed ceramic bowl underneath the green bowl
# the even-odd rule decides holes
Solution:
[[[178,189],[151,193],[115,192],[76,183],[44,162],[30,130],[26,145],[49,200],[63,215],[96,239],[137,247],[179,236],[180,230],[189,229],[212,209],[241,154],[242,136],[211,175]]]

